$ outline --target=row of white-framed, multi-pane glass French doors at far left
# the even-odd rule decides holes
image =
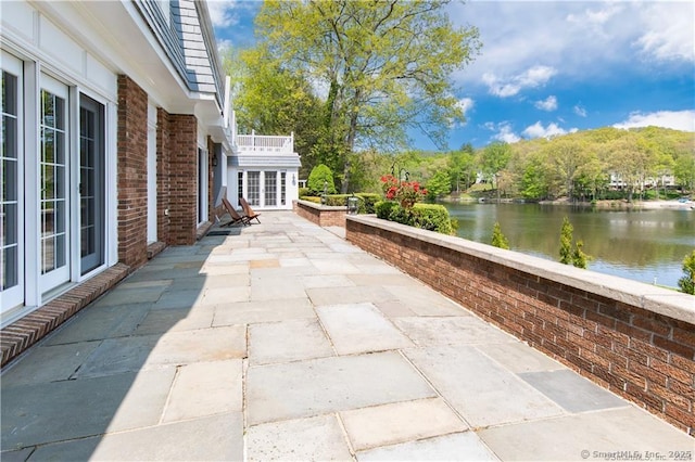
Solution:
[[[0,63],[4,323],[105,264],[106,117],[37,64],[4,51]]]

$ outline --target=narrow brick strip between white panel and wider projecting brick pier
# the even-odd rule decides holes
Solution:
[[[169,115],[163,108],[156,111],[156,232],[157,240],[169,242],[169,209],[170,189],[170,140]]]

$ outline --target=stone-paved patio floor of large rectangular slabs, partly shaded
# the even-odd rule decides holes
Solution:
[[[165,249],[5,368],[2,461],[693,459],[340,230],[260,218]]]

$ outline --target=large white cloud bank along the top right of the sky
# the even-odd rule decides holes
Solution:
[[[540,60],[580,81],[615,76],[616,66],[695,61],[692,1],[470,1],[448,10],[455,25],[478,27],[483,43],[454,75],[462,84],[519,75]],[[514,81],[494,82],[498,93],[517,91]]]

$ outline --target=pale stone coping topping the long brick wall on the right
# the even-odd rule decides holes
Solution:
[[[631,281],[610,274],[574,268],[515,251],[468,241],[463,238],[427,231],[377,218],[375,215],[349,215],[348,221],[380,228],[428,242],[455,252],[514,268],[570,287],[576,287],[614,300],[626,303],[669,318],[695,324],[695,296]],[[350,227],[348,227],[350,240]]]

